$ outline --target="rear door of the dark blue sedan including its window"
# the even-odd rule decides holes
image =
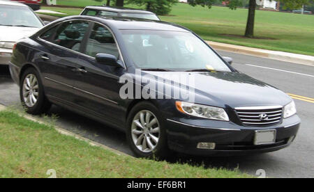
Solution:
[[[48,97],[75,102],[73,86],[80,63],[80,49],[89,22],[64,22],[40,36],[45,49],[38,56]]]

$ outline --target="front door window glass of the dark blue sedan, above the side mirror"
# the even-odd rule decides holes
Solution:
[[[119,57],[119,51],[112,33],[100,24],[95,24],[87,40],[86,54],[95,57],[96,54],[112,54]]]

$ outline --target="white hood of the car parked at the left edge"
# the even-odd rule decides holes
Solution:
[[[38,31],[38,28],[20,26],[0,26],[0,41],[17,42]]]

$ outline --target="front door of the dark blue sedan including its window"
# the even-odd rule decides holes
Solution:
[[[77,104],[85,109],[98,113],[108,122],[124,125],[124,113],[119,104],[119,90],[122,84],[119,77],[124,69],[99,64],[94,56],[98,53],[112,54],[119,57],[119,51],[114,38],[105,26],[95,24],[84,47],[85,54],[80,56],[82,62],[77,63],[84,72],[77,75],[75,95]]]

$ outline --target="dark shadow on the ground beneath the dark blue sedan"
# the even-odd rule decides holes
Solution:
[[[134,156],[128,147],[124,132],[113,129],[100,122],[96,122],[82,115],[73,113],[59,106],[52,106],[48,116],[57,115],[56,124],[75,134],[96,141],[103,145]],[[202,166],[204,168],[225,168],[228,170],[241,170],[241,172],[255,175],[259,169],[266,169],[278,162],[271,154],[253,154],[238,157],[195,157],[180,153],[171,153],[163,159],[169,163],[187,163],[190,166]]]

